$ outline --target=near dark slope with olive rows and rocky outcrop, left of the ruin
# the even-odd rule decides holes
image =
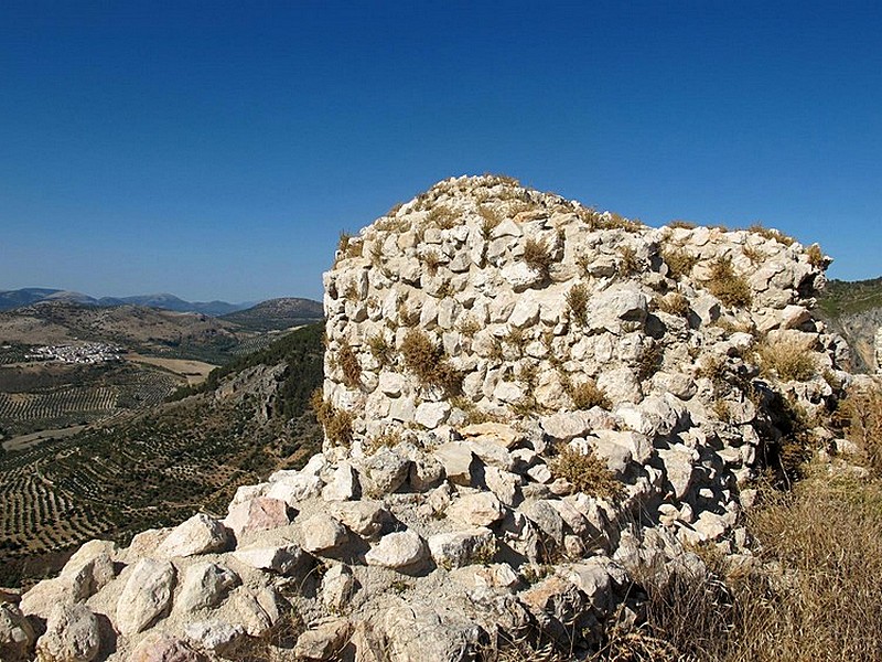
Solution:
[[[92,537],[223,514],[236,487],[302,463],[320,444],[309,396],[321,337],[294,331],[183,401],[0,456],[0,585],[42,576]]]

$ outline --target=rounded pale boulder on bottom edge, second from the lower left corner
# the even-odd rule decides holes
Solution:
[[[60,602],[46,619],[46,631],[36,641],[40,660],[90,662],[98,655],[101,638],[98,619],[83,602]]]

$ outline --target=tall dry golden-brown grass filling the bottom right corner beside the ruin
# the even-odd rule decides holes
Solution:
[[[647,568],[637,630],[610,633],[664,643],[659,660],[707,662],[882,659],[882,489],[818,472],[792,493],[764,491],[747,530],[759,563],[727,567],[702,555],[709,575]],[[643,575],[643,576],[641,576]],[[610,654],[594,660],[650,660]],[[615,649],[621,651],[621,647]],[[607,652],[610,651],[610,652]]]

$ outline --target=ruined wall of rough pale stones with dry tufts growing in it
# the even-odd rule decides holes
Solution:
[[[811,314],[828,264],[774,231],[440,182],[324,276],[323,452],[223,520],[87,543],[0,605],[3,659],[34,630],[45,660],[579,659],[636,618],[638,570],[751,558],[787,413],[822,421],[851,380]]]

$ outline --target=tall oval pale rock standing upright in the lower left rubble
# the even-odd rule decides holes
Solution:
[[[172,600],[174,566],[168,560],[142,558],[132,569],[117,600],[116,626],[126,637],[150,627]]]

